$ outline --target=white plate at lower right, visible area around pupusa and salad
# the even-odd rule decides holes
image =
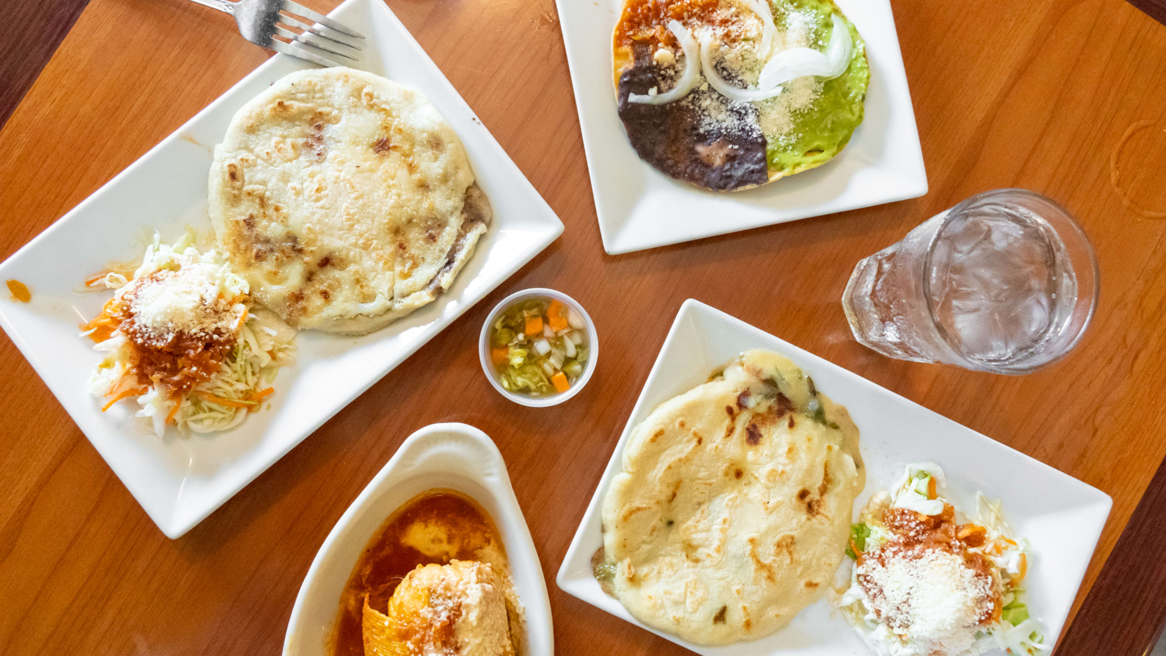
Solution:
[[[850,411],[861,432],[858,444],[866,465],[866,487],[855,502],[856,517],[871,495],[886,489],[902,474],[906,463],[925,460],[943,467],[948,496],[958,508],[974,510],[977,490],[989,498],[1002,498],[1009,523],[1017,535],[1032,542],[1035,552],[1025,584],[1025,601],[1033,616],[1042,622],[1049,643],[1056,638],[1109,516],[1112,505],[1109,495],[693,299],[681,306],[591,497],[559,568],[560,588],[705,656],[869,652],[824,596],[772,635],[725,647],[701,647],[648,629],[619,601],[604,594],[591,575],[591,556],[603,547],[599,505],[611,479],[620,470],[632,427],[659,404],[705,382],[710,371],[740,351],[756,348],[789,357],[814,377],[817,389]]]

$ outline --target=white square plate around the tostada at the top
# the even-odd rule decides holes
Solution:
[[[923,153],[890,0],[837,0],[866,41],[866,116],[829,163],[732,194],[704,191],[640,160],[616,113],[611,34],[621,0],[556,0],[603,247],[654,249],[927,193]]]

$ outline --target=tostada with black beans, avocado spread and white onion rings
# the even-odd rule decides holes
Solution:
[[[831,0],[625,0],[612,48],[632,147],[703,189],[821,166],[863,121],[865,47]]]

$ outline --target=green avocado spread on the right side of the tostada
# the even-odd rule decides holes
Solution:
[[[785,34],[808,32],[815,50],[830,39],[831,14],[844,21],[854,40],[850,67],[822,81],[792,81],[781,95],[758,103],[766,160],[771,172],[793,175],[821,166],[838,154],[863,121],[863,100],[870,82],[866,48],[855,26],[830,0],[772,0],[774,23]],[[768,117],[775,117],[770,118]]]

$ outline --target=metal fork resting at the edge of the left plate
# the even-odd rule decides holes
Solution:
[[[364,39],[363,34],[292,0],[194,1],[234,16],[243,37],[257,46],[322,67],[345,65],[328,57],[325,53],[353,62],[360,61],[358,40]],[[288,29],[290,27],[303,32],[295,33]],[[288,41],[281,41],[276,36]]]

